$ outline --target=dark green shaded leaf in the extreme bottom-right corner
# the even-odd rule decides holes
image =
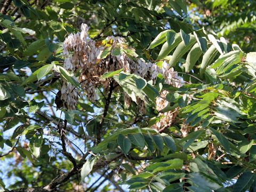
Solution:
[[[244,192],[250,188],[255,179],[255,174],[252,172],[243,173],[237,180],[233,191],[234,192]]]

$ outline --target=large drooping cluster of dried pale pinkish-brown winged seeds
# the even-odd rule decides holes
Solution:
[[[106,42],[111,42],[111,50],[116,47],[125,47],[131,50],[132,57],[138,57],[133,49],[125,45],[124,38],[110,36],[106,38]],[[155,63],[145,62],[138,59],[136,62],[130,59],[125,52],[117,56],[109,54],[105,59],[102,58],[102,53],[107,49],[106,46],[100,46],[98,42],[93,41],[89,38],[88,27],[86,24],[82,24],[81,33],[70,34],[63,43],[63,56],[66,58],[64,62],[64,68],[73,71],[73,73],[79,71],[80,77],[79,82],[84,89],[87,98],[94,102],[98,97],[95,91],[95,86],[102,85],[105,91],[109,89],[109,81],[107,79],[101,79],[101,76],[109,71],[115,71],[124,68],[124,72],[139,75],[145,78],[147,81],[155,79],[158,74],[162,74],[165,77],[165,83],[171,84],[176,87],[180,87],[180,83],[174,81],[174,79],[180,79],[180,77],[173,71],[173,68],[169,69],[166,62],[163,62],[162,68],[159,68]],[[67,106],[71,109],[75,109],[77,102],[77,95],[71,94],[70,92],[65,92],[69,90],[66,83],[63,84],[61,90],[63,90],[63,99],[67,102]],[[66,94],[65,94],[66,93]],[[166,97],[167,91],[161,92],[161,97],[156,99],[157,110],[165,108],[168,104],[164,98]],[[70,97],[68,97],[70,94]],[[127,93],[124,93],[124,102],[127,106],[131,105],[132,99]],[[145,102],[141,99],[137,99],[138,105],[140,105],[140,112],[146,112]],[[71,105],[70,105],[71,104]],[[157,123],[157,128],[159,129],[162,125],[166,125],[173,121],[175,114],[171,114],[172,111],[160,114],[165,115]]]

